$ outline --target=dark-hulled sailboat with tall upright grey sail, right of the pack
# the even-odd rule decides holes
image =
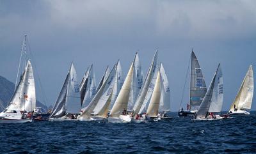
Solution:
[[[198,59],[195,56],[195,52],[191,52],[191,65],[190,65],[190,96],[187,110],[183,108],[178,112],[179,116],[194,115],[198,110],[198,107],[204,99],[205,93],[207,92],[204,75],[202,69],[198,63]],[[181,102],[182,103],[182,102]]]

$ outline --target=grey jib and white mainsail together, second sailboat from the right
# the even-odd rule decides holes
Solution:
[[[218,82],[220,81],[219,78],[222,78],[220,64],[218,65],[218,68],[214,73],[214,77],[212,78],[210,87],[207,90],[204,100],[202,101],[202,104],[200,105],[198,111],[195,114],[196,119],[206,118],[208,116],[211,104],[223,104],[223,87],[221,86],[221,84],[218,84]]]

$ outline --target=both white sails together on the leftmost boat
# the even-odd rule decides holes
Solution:
[[[35,79],[30,60],[25,72],[22,74],[19,84],[13,93],[7,109],[20,109],[31,112],[36,107]]]

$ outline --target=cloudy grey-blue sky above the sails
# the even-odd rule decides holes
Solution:
[[[158,48],[178,111],[191,49],[207,87],[221,63],[227,111],[249,65],[256,67],[256,1],[0,1],[0,75],[15,82],[24,34],[36,96],[52,105],[73,61],[79,80],[93,64],[96,81],[120,59],[124,75],[138,51],[147,73]],[[31,54],[32,53],[32,54]],[[42,95],[40,82],[45,95]],[[183,107],[189,102],[189,86]],[[47,99],[46,99],[47,98]],[[256,110],[255,97],[252,110]]]

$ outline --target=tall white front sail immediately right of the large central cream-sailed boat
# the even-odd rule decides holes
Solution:
[[[152,94],[152,91],[150,90],[154,89],[154,85],[152,84],[152,78],[154,78],[154,74],[155,72],[157,72],[156,70],[157,70],[157,51],[154,55],[150,68],[148,69],[147,76],[145,78],[145,81],[143,82],[143,86],[140,89],[140,93],[138,95],[138,98],[136,99],[136,103],[134,104],[134,107],[132,109],[133,116],[136,116],[136,114],[140,112],[141,106],[144,104],[143,102],[146,102],[147,104],[149,97]]]

